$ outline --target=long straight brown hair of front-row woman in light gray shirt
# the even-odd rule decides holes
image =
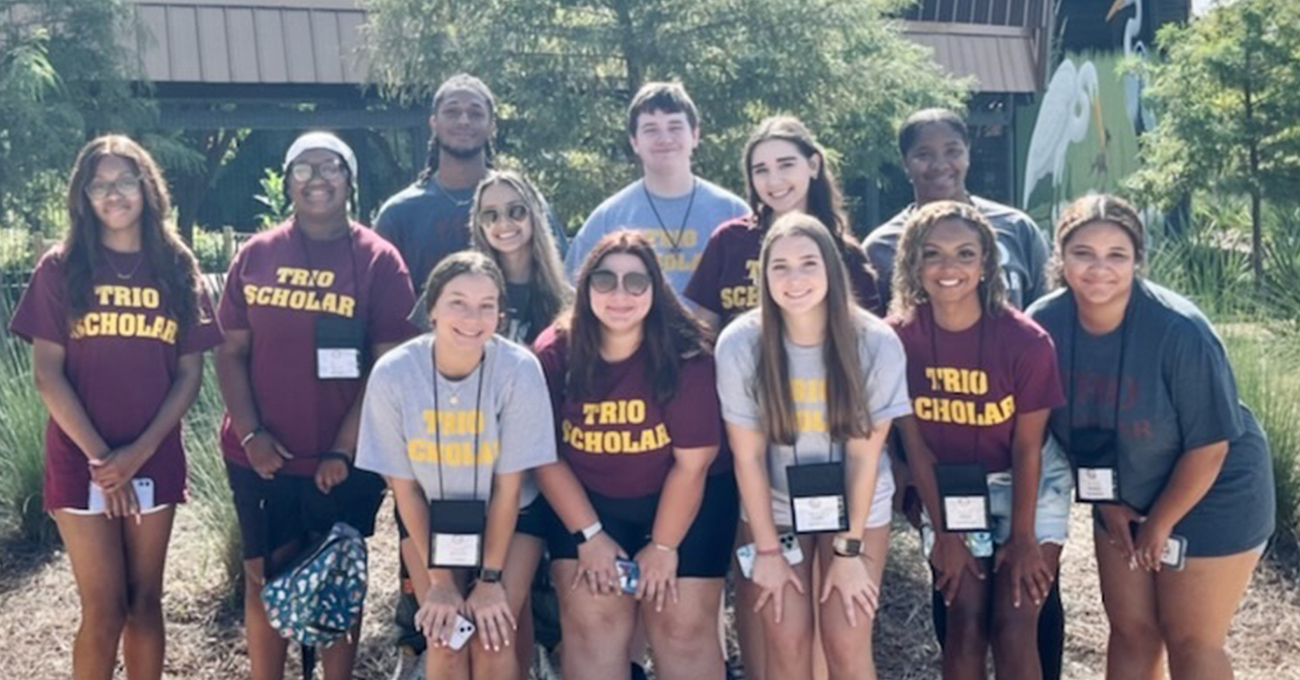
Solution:
[[[772,246],[783,238],[805,237],[816,243],[826,268],[826,341],[822,360],[826,365],[826,400],[829,434],[833,439],[863,437],[871,432],[867,390],[862,360],[858,355],[857,315],[867,315],[853,303],[849,277],[835,244],[835,237],[816,217],[803,213],[783,216],[763,239],[759,256],[763,277],[759,348],[758,394],[763,426],[768,438],[790,446],[798,438],[794,417],[794,395],[790,390],[790,360],[785,354],[785,319],[767,283],[767,265]]]

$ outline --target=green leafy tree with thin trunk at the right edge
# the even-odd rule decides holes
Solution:
[[[1147,92],[1160,122],[1130,189],[1162,207],[1202,189],[1248,195],[1260,285],[1261,204],[1300,198],[1300,4],[1223,4],[1157,43]]]

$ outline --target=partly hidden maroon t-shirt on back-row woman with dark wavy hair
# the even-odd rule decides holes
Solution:
[[[759,254],[763,250],[763,231],[740,217],[723,222],[705,246],[696,273],[690,276],[684,294],[696,304],[714,312],[725,326],[732,319],[758,307]],[[883,315],[880,291],[871,276],[867,256],[859,248],[844,251],[844,264],[849,269],[849,283],[862,308]]]

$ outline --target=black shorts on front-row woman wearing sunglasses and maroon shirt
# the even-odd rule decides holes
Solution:
[[[650,545],[659,494],[641,498],[610,498],[586,493],[604,532],[628,555],[636,555]],[[705,481],[705,497],[699,514],[690,524],[685,538],[677,546],[677,576],[694,579],[722,579],[731,568],[732,545],[740,521],[740,493],[731,471],[710,475]],[[547,540],[551,559],[577,559],[577,541],[560,521]]]

